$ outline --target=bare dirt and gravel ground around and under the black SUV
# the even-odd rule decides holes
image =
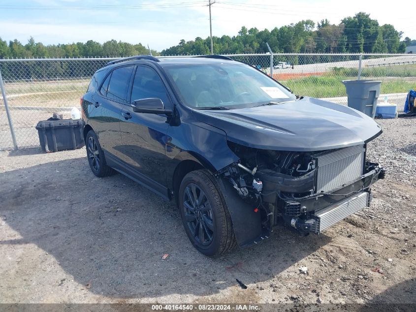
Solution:
[[[416,304],[416,119],[378,122],[368,159],[387,173],[370,208],[214,259],[173,203],[120,174],[96,178],[85,148],[0,152],[0,303]]]

